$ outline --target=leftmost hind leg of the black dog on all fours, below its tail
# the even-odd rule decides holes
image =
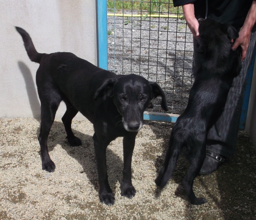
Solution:
[[[47,94],[49,94],[49,97],[46,97],[46,95],[42,96],[41,93],[38,92],[41,100],[41,127],[38,141],[41,149],[42,169],[48,172],[53,172],[55,170],[55,164],[49,156],[47,140],[61,98],[55,91],[48,91]],[[54,100],[52,97],[54,97]]]

